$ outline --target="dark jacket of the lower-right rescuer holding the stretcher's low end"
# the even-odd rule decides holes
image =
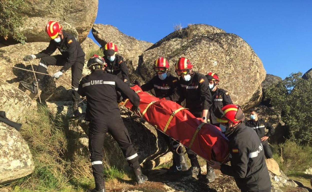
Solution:
[[[234,177],[236,185],[243,191],[268,189],[271,180],[256,132],[241,123],[228,139],[231,166],[221,165],[221,172]]]

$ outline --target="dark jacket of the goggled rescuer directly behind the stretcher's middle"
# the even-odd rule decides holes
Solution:
[[[149,82],[141,86],[142,91],[150,91],[154,89],[155,96],[159,99],[165,98],[166,100],[178,101],[178,78],[167,74],[164,80],[159,79],[158,75],[153,77]]]

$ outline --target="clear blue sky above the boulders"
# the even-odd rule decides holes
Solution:
[[[269,74],[285,78],[312,68],[312,0],[99,0],[95,23],[152,43],[176,24],[208,24],[246,40]]]

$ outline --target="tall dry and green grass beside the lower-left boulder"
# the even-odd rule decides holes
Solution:
[[[68,119],[44,106],[30,111],[21,134],[32,153],[35,170],[0,187],[14,192],[83,192],[93,188],[89,155],[81,153],[75,144],[78,137],[68,129]],[[103,162],[106,180],[126,176],[124,171]]]

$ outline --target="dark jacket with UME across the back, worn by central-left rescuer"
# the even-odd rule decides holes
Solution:
[[[103,70],[95,70],[90,75],[82,78],[78,93],[87,98],[85,119],[120,117],[117,104],[117,88],[128,96],[134,106],[139,106],[139,96],[116,75],[105,73]]]

